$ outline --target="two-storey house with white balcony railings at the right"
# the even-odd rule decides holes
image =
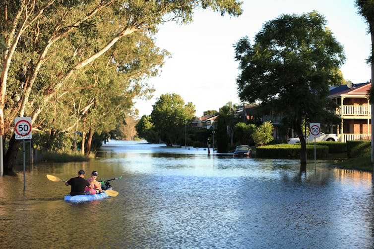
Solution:
[[[335,100],[339,106],[336,114],[341,125],[331,128],[338,134],[340,142],[347,140],[371,140],[371,105],[366,97],[371,83],[341,85],[330,89],[328,99]]]

